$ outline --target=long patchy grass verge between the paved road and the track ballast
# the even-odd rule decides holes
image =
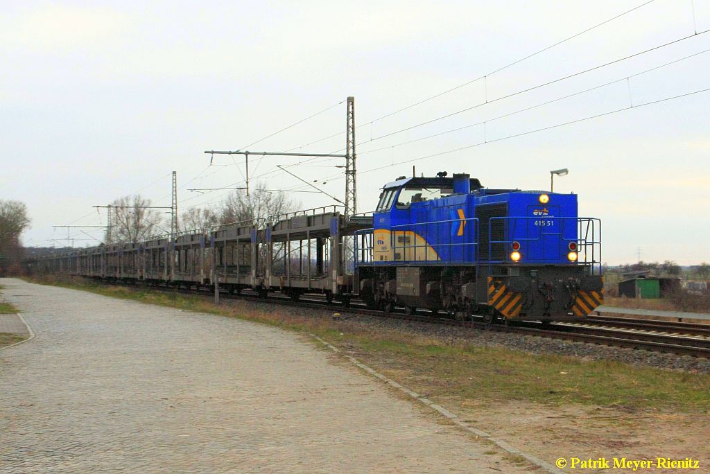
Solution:
[[[356,320],[333,321],[323,312],[309,309],[247,302],[217,306],[207,297],[85,280],[32,281],[317,334],[435,400],[456,399],[462,404],[583,404],[621,407],[632,412],[710,412],[710,375],[705,374],[444,341]]]

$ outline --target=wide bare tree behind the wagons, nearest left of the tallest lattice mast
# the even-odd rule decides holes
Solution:
[[[266,183],[259,182],[249,195],[240,189],[224,200],[219,223],[251,221],[257,224],[269,216],[293,212],[300,206],[300,202],[290,199],[285,192],[266,191]]]

